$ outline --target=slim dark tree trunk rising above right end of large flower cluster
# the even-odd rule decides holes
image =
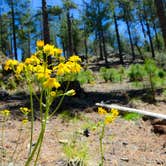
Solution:
[[[71,30],[71,19],[70,19],[70,12],[69,9],[66,14],[67,17],[67,29],[68,29],[68,53],[67,56],[71,56],[73,54],[73,45],[72,45],[72,30]]]

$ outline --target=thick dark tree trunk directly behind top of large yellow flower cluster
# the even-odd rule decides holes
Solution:
[[[43,17],[44,44],[50,44],[50,32],[49,32],[48,12],[47,12],[46,0],[42,0],[42,17]],[[47,61],[48,61],[48,64],[51,64],[51,56],[48,57]]]

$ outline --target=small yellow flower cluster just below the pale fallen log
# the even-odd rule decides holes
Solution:
[[[100,115],[105,115],[104,123],[109,124],[114,122],[114,120],[117,118],[119,115],[119,112],[117,109],[111,109],[110,113],[107,112],[104,108],[98,107],[98,113]]]

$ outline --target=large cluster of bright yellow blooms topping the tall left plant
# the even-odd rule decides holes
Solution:
[[[42,40],[37,41],[36,45],[37,52],[35,54],[26,58],[24,62],[9,59],[6,61],[4,69],[6,71],[12,69],[17,78],[21,76],[23,78],[23,76],[25,76],[26,79],[38,82],[44,88],[48,89],[57,89],[60,87],[58,79],[52,77],[59,78],[59,76],[66,74],[78,73],[82,69],[79,64],[81,59],[78,56],[73,55],[68,60],[65,60],[65,58],[61,56],[61,49],[50,44],[44,45],[44,41]],[[57,58],[56,66],[51,64],[53,67],[50,69],[49,65],[44,60],[46,58],[45,56],[54,56]]]

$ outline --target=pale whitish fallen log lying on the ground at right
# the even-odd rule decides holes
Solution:
[[[159,113],[155,113],[155,112],[149,112],[149,111],[145,111],[145,110],[119,106],[119,105],[116,105],[116,104],[96,103],[96,106],[106,107],[106,108],[110,108],[110,109],[115,108],[115,109],[118,109],[120,111],[133,112],[133,113],[138,113],[138,114],[142,114],[142,115],[145,115],[145,116],[150,116],[150,117],[166,120],[166,115],[164,115],[164,114],[159,114]]]

